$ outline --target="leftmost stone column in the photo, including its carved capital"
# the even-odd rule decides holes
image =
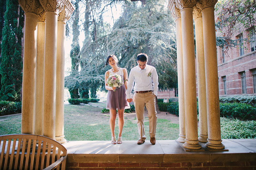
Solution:
[[[19,0],[25,12],[24,55],[22,77],[21,133],[35,131],[36,24],[38,1]]]

